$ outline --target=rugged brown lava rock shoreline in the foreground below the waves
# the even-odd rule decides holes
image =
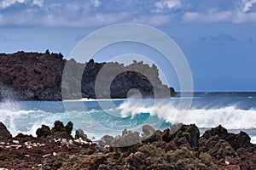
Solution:
[[[38,128],[37,137],[14,138],[0,122],[0,169],[256,169],[256,145],[247,133],[221,126],[201,137],[195,124],[177,124],[163,132],[149,125],[143,133],[124,130],[93,142],[73,123],[56,121]]]

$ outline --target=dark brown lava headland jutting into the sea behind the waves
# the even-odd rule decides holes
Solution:
[[[62,54],[18,52],[0,54],[0,99],[61,100],[64,67],[68,82],[62,82],[62,90],[68,94],[68,99],[79,99],[80,93],[83,98],[126,98],[131,88],[137,88],[143,97],[155,97],[156,91],[156,97],[163,97],[166,93],[162,92],[166,90],[175,94],[173,88],[162,85],[155,65],[150,67],[134,62],[124,66],[95,63],[93,59],[80,64],[73,59],[63,59]],[[114,75],[109,84],[108,74],[115,72],[119,74]],[[102,76],[98,78],[99,73]],[[80,84],[79,92],[73,89],[76,84]]]

